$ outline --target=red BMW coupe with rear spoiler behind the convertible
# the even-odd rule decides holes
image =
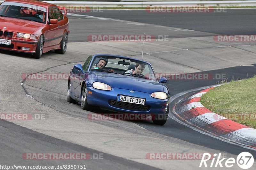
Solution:
[[[64,14],[63,14],[63,13]],[[65,8],[36,0],[6,0],[0,5],[0,49],[33,54],[64,54],[69,22]]]

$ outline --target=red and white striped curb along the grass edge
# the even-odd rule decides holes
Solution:
[[[200,98],[214,87],[207,88],[187,98],[177,115],[211,134],[256,149],[256,129],[234,122],[211,112],[200,102]]]

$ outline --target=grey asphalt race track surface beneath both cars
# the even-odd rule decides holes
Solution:
[[[204,86],[256,75],[256,42],[215,41],[214,35],[255,35],[256,9],[212,13],[148,13],[104,10],[69,13],[65,55],[48,52],[39,60],[0,50],[0,113],[43,114],[43,120],[0,121],[1,165],[85,165],[86,169],[198,169],[200,160],[150,160],[147,153],[225,153],[236,158],[256,151],[216,139],[177,122],[172,109],[164,126],[147,121],[95,121],[92,113],[66,101],[68,82],[30,80],[24,74],[69,73],[92,54],[141,58],[142,42],[88,41],[91,35],[154,35],[143,59],[157,73],[208,73],[210,80],[168,80],[170,108]],[[220,79],[219,76],[222,75]],[[102,110],[94,110],[102,113]],[[23,153],[90,153],[88,160],[26,160]],[[103,155],[103,159],[97,156]],[[209,164],[210,165],[210,164]],[[252,168],[255,169],[255,163]],[[207,169],[207,168],[202,168]],[[214,168],[212,168],[214,169]],[[215,168],[216,169],[216,168]],[[219,168],[220,169],[220,168]],[[240,169],[234,165],[232,169]]]

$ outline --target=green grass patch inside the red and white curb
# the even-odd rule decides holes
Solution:
[[[215,87],[200,102],[218,115],[256,129],[256,77]]]

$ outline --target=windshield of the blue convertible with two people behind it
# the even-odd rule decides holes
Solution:
[[[157,81],[151,65],[142,61],[97,56],[92,62],[92,71],[108,71]]]

